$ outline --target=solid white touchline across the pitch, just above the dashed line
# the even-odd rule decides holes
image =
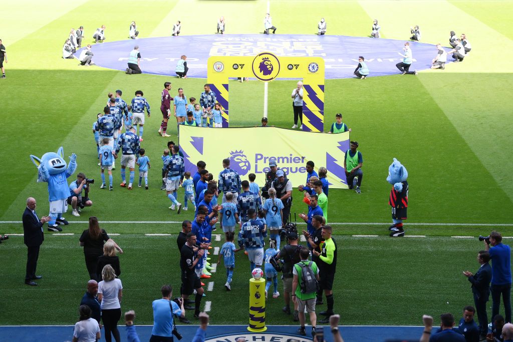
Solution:
[[[109,224],[181,224],[182,221],[100,221]],[[1,224],[21,224],[22,221],[0,221]],[[89,221],[73,221],[70,224],[88,224]],[[298,222],[298,225],[306,225],[304,222]],[[330,222],[330,226],[380,226],[390,225],[390,222]],[[407,226],[484,226],[484,227],[513,227],[513,223],[424,223],[408,222]]]

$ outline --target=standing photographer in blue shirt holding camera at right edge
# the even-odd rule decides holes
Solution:
[[[484,240],[484,250],[490,253],[491,260],[491,316],[499,314],[502,301],[504,303],[504,317],[511,323],[511,248],[502,243],[502,235],[492,231],[490,236],[479,237]],[[491,248],[490,248],[491,246]]]

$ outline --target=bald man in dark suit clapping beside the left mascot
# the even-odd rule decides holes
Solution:
[[[37,258],[39,257],[39,248],[45,239],[43,235],[43,225],[50,220],[50,216],[43,216],[41,219],[35,213],[35,198],[27,198],[27,208],[23,212],[23,240],[28,247],[27,254],[27,273],[25,275],[25,284],[36,286],[35,279],[41,279],[41,275],[35,275],[37,267]]]

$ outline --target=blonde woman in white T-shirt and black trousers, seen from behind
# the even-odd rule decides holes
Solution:
[[[123,286],[121,280],[116,278],[114,269],[106,265],[102,270],[103,280],[98,283],[98,301],[102,308],[102,321],[105,327],[105,340],[112,341],[111,333],[116,342],[120,342],[120,332],[117,330],[117,321],[121,318],[121,299]]]

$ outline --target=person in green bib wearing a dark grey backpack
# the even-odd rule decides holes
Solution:
[[[315,336],[315,326],[317,325],[317,316],[315,315],[315,295],[319,287],[319,269],[313,261],[308,260],[310,251],[306,248],[300,250],[301,261],[292,268],[292,296],[298,301],[299,323],[298,329],[300,335],[305,336],[305,309],[310,315],[310,324],[312,326],[312,337]],[[313,278],[314,277],[314,278]]]

